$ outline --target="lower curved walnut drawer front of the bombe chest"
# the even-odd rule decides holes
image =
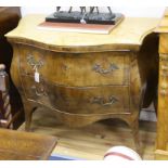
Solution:
[[[72,114],[129,113],[128,87],[60,87],[46,80],[37,83],[33,77],[28,76],[22,76],[22,82],[27,99],[62,112]]]

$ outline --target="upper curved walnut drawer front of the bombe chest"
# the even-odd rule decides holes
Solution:
[[[70,87],[128,85],[130,52],[57,53],[20,47],[22,74],[40,76]]]

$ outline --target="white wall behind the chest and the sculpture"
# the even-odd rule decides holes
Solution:
[[[105,11],[106,8],[101,7],[101,11]],[[125,16],[132,17],[161,17],[165,7],[112,7],[114,12],[120,12]],[[54,7],[22,7],[23,16],[30,13],[43,13],[50,14],[55,11]]]

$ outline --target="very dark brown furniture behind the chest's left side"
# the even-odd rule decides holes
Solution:
[[[14,29],[21,18],[20,7],[0,7],[0,64],[5,65],[5,70],[9,75],[9,94],[11,103],[12,122],[13,128],[16,129],[21,122],[24,120],[23,105],[21,96],[14,87],[11,75],[10,67],[13,56],[13,49],[11,44],[7,41],[4,34]]]

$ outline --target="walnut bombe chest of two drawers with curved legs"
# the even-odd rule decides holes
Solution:
[[[38,29],[43,21],[43,15],[28,15],[7,35],[14,49],[11,75],[24,102],[26,130],[33,112],[46,106],[70,127],[122,119],[139,146],[142,88],[150,69],[143,61],[152,57],[147,39],[155,39],[151,33],[158,21],[125,18],[109,35]]]

